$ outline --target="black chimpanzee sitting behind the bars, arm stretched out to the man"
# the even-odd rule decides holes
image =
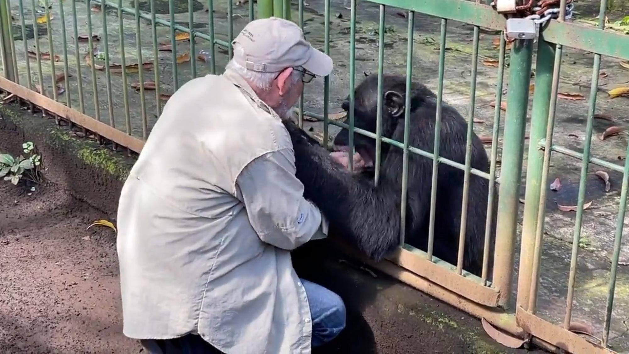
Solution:
[[[382,136],[403,141],[406,79],[384,75]],[[421,83],[411,86],[409,146],[433,152],[437,97]],[[343,110],[349,110],[349,98]],[[354,125],[376,132],[377,74],[364,79],[355,88]],[[348,123],[348,119],[345,123]],[[401,190],[403,150],[382,144],[379,183],[374,186],[372,175],[350,173],[330,156],[313,138],[293,122],[286,122],[295,152],[296,176],[304,185],[304,197],[311,200],[338,230],[370,258],[379,261],[399,244],[401,227]],[[439,156],[460,164],[465,163],[467,123],[452,106],[442,103],[442,126]],[[341,130],[334,140],[335,150],[347,151],[349,131]],[[376,140],[354,134],[356,154],[362,162],[372,165],[376,159]],[[353,158],[347,154],[347,158]],[[472,168],[489,171],[489,159],[476,134],[472,135]],[[405,242],[427,249],[430,219],[432,159],[409,152],[408,192]],[[437,175],[437,205],[435,212],[435,242],[433,254],[452,265],[457,264],[464,172],[440,164]],[[464,270],[480,276],[487,214],[489,181],[470,174],[469,202],[465,233]],[[495,200],[495,199],[494,199]],[[493,205],[494,210],[497,204]],[[493,265],[495,215],[490,232],[490,271]],[[491,272],[489,273],[491,274]]]

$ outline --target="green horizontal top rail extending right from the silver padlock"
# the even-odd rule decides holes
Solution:
[[[574,33],[579,33],[579,35],[574,35]],[[547,42],[562,44],[585,52],[620,59],[629,58],[629,36],[623,33],[551,20],[544,28],[544,38]]]

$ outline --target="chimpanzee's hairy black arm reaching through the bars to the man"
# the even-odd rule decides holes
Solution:
[[[292,122],[285,122],[295,152],[304,197],[341,231],[340,237],[376,261],[399,244],[399,191],[355,178],[326,149]]]

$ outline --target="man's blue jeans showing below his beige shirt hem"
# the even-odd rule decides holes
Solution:
[[[313,324],[312,346],[333,340],[345,328],[345,304],[334,292],[308,280],[300,279],[306,290]],[[201,336],[186,334],[170,340],[142,340],[148,354],[220,353]]]

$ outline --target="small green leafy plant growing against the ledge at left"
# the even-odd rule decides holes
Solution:
[[[25,142],[22,144],[22,149],[26,157],[0,154],[0,177],[3,177],[5,181],[11,181],[13,185],[17,185],[22,178],[33,183],[40,183],[39,166],[42,164],[42,156],[36,153],[33,142]]]

